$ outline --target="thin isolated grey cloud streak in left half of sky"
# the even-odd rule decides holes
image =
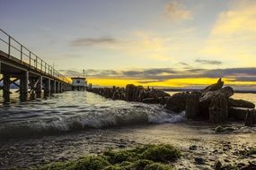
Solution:
[[[89,47],[97,45],[110,45],[116,44],[118,40],[116,38],[102,37],[102,38],[77,38],[71,41],[71,47]]]

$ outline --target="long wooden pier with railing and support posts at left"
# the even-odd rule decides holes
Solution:
[[[71,90],[71,80],[0,29],[0,90],[10,98],[10,88],[17,87],[20,96],[59,93]]]

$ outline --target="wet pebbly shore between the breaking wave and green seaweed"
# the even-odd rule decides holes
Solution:
[[[163,123],[135,125],[55,136],[0,141],[0,169],[24,168],[65,161],[106,149],[129,149],[147,143],[169,143],[181,149],[177,168],[212,169],[216,160],[225,164],[256,163],[256,156],[241,151],[256,146],[256,128],[233,124],[234,132],[214,132],[216,125],[206,123]],[[203,159],[203,163],[195,161]]]

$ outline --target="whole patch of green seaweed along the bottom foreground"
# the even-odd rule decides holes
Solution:
[[[37,168],[38,170],[171,170],[168,165],[181,157],[172,145],[145,145],[136,149],[113,151],[102,155],[82,157],[57,162]]]

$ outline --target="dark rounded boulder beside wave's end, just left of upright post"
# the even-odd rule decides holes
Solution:
[[[189,95],[189,93],[176,93],[172,95],[171,98],[167,99],[165,108],[177,113],[186,110],[186,102]]]

